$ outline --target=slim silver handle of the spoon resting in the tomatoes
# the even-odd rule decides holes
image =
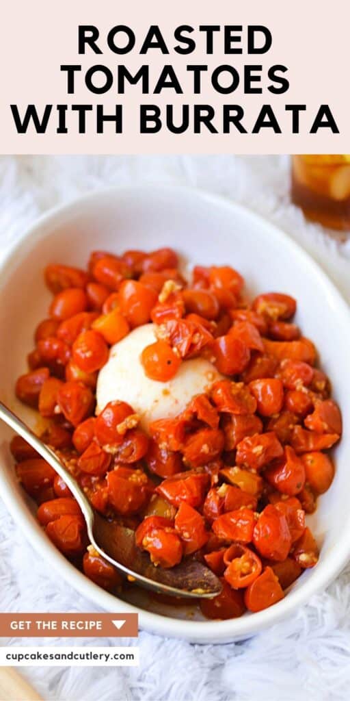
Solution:
[[[33,433],[33,431],[31,431],[30,428],[28,428],[28,426],[26,426],[25,423],[18,418],[18,416],[15,416],[15,414],[13,414],[13,412],[10,411],[10,409],[8,409],[8,407],[6,407],[6,405],[2,402],[0,402],[0,419],[7,423],[10,428],[13,428],[16,433],[22,436],[22,438],[24,438],[27,443],[29,443],[29,445],[31,445],[31,447],[34,448],[34,450],[36,450],[36,452],[40,454],[41,457],[44,458],[47,463],[49,463],[49,465],[51,465],[55,472],[58,473],[59,477],[64,479],[64,482],[71,490],[71,493],[76,498],[76,501],[78,501],[85,518],[91,523],[94,514],[89,501],[87,501],[83,490],[80,489],[76,483],[76,479],[71,476],[69,470],[67,470],[59,461],[54,451],[45,445],[45,443],[43,443],[43,441],[38,438],[35,433]]]

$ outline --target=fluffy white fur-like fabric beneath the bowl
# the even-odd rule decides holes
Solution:
[[[350,301],[350,239],[337,243],[304,221],[290,204],[288,174],[286,156],[2,156],[0,257],[41,212],[80,193],[119,183],[188,183],[222,193],[281,226]],[[20,671],[45,701],[347,701],[349,584],[350,566],[293,620],[244,643],[193,646],[141,632],[139,668]],[[94,610],[31,550],[1,501],[0,597],[1,611]],[[75,640],[72,644],[111,644],[100,638]],[[55,639],[46,642],[55,644]]]

